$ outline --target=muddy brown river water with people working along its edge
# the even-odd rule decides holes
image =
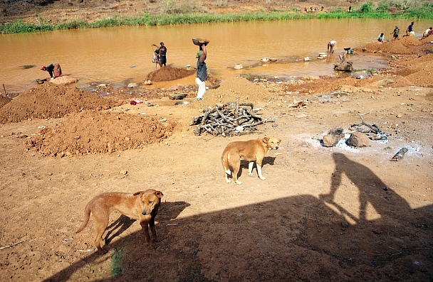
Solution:
[[[142,82],[155,69],[152,43],[165,43],[168,65],[194,66],[197,46],[193,45],[192,38],[197,37],[210,40],[207,65],[223,79],[228,75],[280,79],[333,76],[333,64],[338,62],[339,54],[345,53],[343,48],[357,48],[375,41],[381,32],[385,33],[385,40],[390,39],[395,25],[404,31],[409,22],[406,19],[312,19],[0,35],[0,83],[8,92],[24,91],[36,85],[36,79],[48,77],[48,72],[39,69],[53,62],[61,64],[64,75],[78,79],[77,87],[84,88],[90,82],[119,85]],[[419,38],[429,25],[428,21],[415,21],[414,30]],[[337,41],[335,54],[318,60],[318,53],[326,52],[330,40]],[[304,61],[306,57],[311,60]],[[380,55],[355,51],[347,57],[357,70],[386,67],[387,58]],[[261,58],[276,58],[277,63],[262,64]],[[236,64],[244,68],[236,70]],[[184,82],[194,84],[194,78]]]

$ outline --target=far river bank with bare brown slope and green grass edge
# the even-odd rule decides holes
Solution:
[[[35,33],[113,26],[165,26],[239,21],[286,21],[311,18],[431,19],[427,0],[393,1],[11,1],[0,4],[0,33]]]

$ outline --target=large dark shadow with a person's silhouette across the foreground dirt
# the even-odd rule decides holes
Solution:
[[[167,202],[157,215],[157,249],[134,232],[108,254],[90,254],[46,281],[431,280],[433,205],[411,209],[372,170],[333,157],[330,192],[320,198],[258,199],[180,218],[174,215],[188,204]],[[346,186],[343,175],[355,185]],[[336,202],[339,189],[358,189],[345,202],[359,202],[359,213]],[[375,219],[362,210],[370,205]]]

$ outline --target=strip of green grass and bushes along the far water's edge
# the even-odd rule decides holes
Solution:
[[[226,1],[219,1],[224,5]],[[85,21],[68,21],[65,23],[48,23],[43,18],[38,23],[24,23],[21,20],[16,23],[6,23],[0,26],[1,34],[9,33],[33,33],[40,31],[55,31],[78,28],[103,28],[113,26],[165,26],[192,23],[215,23],[236,21],[284,21],[288,19],[308,18],[424,18],[433,19],[433,1],[411,0],[383,0],[374,4],[366,2],[359,9],[352,12],[343,9],[335,9],[330,12],[304,13],[298,9],[290,11],[258,11],[255,13],[227,13],[221,15],[207,14],[195,4],[182,4],[177,6],[173,0],[162,2],[161,14],[151,15],[144,13],[140,17],[113,17],[105,18],[94,23]]]

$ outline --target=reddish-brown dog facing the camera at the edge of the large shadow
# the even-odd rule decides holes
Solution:
[[[130,219],[140,221],[140,225],[145,232],[146,242],[149,246],[152,246],[148,227],[150,227],[150,232],[152,232],[152,236],[156,241],[155,216],[160,208],[162,196],[162,192],[153,189],[136,192],[134,194],[127,192],[105,192],[99,194],[85,206],[84,222],[76,233],[81,232],[88,224],[91,212],[93,217],[95,217],[98,230],[95,238],[95,246],[98,251],[103,254],[100,241],[108,226],[110,212],[117,210],[122,215],[130,217]]]

